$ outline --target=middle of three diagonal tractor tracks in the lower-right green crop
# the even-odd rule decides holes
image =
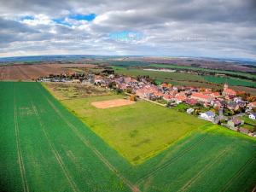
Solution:
[[[188,188],[191,186],[191,184],[195,183],[195,181],[196,181],[199,177],[201,177],[201,175],[202,175],[204,172],[206,172],[206,171],[207,171],[209,168],[211,168],[221,157],[223,157],[224,154],[226,154],[227,151],[228,151],[230,148],[231,148],[231,146],[225,148],[220,154],[218,154],[218,156],[217,156],[214,160],[212,160],[209,164],[207,164],[207,166],[204,166],[204,167],[201,169],[200,172],[197,172],[197,173],[195,174],[194,177],[192,177],[191,179],[189,179],[189,181],[188,181],[187,183],[185,183],[185,184],[183,185],[183,187],[182,187],[181,189],[179,189],[177,192],[179,192],[179,191],[184,191],[184,190],[188,189]]]

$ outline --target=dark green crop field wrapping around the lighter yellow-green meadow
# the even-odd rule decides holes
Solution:
[[[0,82],[0,107],[3,191],[249,192],[256,183],[256,140],[218,125],[198,125],[133,165],[41,84]]]

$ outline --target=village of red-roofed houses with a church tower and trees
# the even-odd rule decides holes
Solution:
[[[229,88],[225,83],[222,90],[193,86],[176,86],[168,83],[155,84],[148,76],[104,73],[63,73],[37,79],[38,82],[62,82],[73,84],[95,84],[118,93],[124,93],[133,101],[143,99],[166,108],[189,113],[200,119],[223,125],[250,137],[256,137],[256,97],[243,91]]]

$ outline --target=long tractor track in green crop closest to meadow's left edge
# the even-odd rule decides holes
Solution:
[[[113,172],[117,177],[119,177],[119,179],[121,181],[123,181],[132,191],[134,192],[141,192],[140,189],[137,188],[136,185],[134,185],[133,183],[131,183],[131,181],[129,181],[126,177],[124,177],[112,164],[110,164],[110,162],[101,154],[101,152],[99,152],[95,147],[93,147],[90,142],[85,139],[84,137],[82,137],[79,134],[78,128],[73,125],[72,123],[70,123],[69,121],[67,121],[67,119],[65,119],[63,117],[63,115],[61,114],[61,112],[55,108],[55,105],[49,101],[49,98],[47,96],[44,95],[44,97],[46,98],[47,102],[49,102],[49,105],[55,110],[55,112],[61,117],[61,119],[68,125],[68,127],[71,128],[71,130],[75,133],[75,135],[77,137],[79,137],[80,141],[82,143],[84,143],[85,146],[87,146],[88,148],[90,148],[94,154],[96,154],[96,156],[99,158],[99,160],[102,160],[103,164],[105,166],[108,167],[108,169]]]

